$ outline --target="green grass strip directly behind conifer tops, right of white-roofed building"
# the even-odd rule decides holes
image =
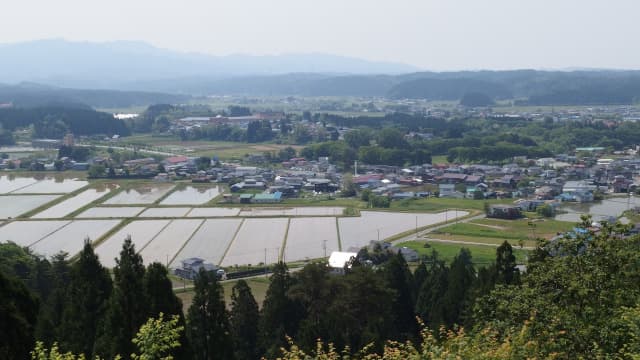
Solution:
[[[425,247],[425,244],[427,244],[428,247]],[[453,258],[460,252],[461,248],[467,248],[471,251],[473,263],[476,266],[489,265],[496,260],[495,246],[448,244],[435,241],[407,241],[398,244],[398,246],[406,246],[413,249],[421,256],[431,255],[431,251],[435,250],[438,256],[447,263],[453,261]],[[519,264],[526,262],[526,250],[521,250],[514,246],[514,253],[516,255],[516,261]]]

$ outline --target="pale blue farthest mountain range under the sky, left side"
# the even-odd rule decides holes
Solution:
[[[76,88],[137,88],[138,82],[284,73],[399,74],[416,67],[327,54],[212,56],[144,42],[39,40],[0,45],[0,81]]]

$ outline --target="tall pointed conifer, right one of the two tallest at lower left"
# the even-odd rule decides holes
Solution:
[[[109,299],[109,309],[96,352],[106,358],[121,354],[127,359],[135,351],[131,339],[147,321],[149,314],[143,290],[145,268],[130,237],[122,245],[113,273],[113,294]]]

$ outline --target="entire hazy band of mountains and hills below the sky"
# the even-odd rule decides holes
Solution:
[[[104,108],[181,103],[207,95],[458,101],[469,93],[528,105],[640,102],[640,71],[417,70],[323,54],[217,57],[142,42],[41,40],[0,45],[0,103]]]

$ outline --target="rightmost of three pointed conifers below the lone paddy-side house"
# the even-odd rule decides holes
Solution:
[[[275,357],[286,345],[285,335],[295,333],[295,309],[287,297],[291,285],[287,265],[279,262],[271,275],[259,324],[258,345],[267,357]]]

